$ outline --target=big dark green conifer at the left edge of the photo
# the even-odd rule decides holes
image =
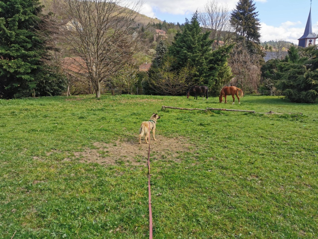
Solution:
[[[0,97],[30,96],[45,74],[39,0],[0,2]],[[41,73],[41,74],[39,74]]]

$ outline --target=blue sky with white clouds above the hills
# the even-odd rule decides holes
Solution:
[[[210,0],[144,0],[141,13],[151,18],[167,22],[184,23],[191,19],[193,12],[204,10]],[[216,0],[218,4],[227,4],[232,11],[238,0]],[[261,42],[287,40],[298,45],[305,30],[310,0],[254,0],[261,26]],[[318,0],[311,5],[313,32],[318,33]]]

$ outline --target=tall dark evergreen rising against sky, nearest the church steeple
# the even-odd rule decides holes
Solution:
[[[253,0],[239,0],[236,9],[231,13],[231,24],[236,28],[239,35],[245,36],[247,40],[259,43],[259,19],[258,12]]]

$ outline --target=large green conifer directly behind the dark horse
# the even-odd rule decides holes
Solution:
[[[194,79],[212,87],[217,81],[219,70],[227,62],[232,45],[219,47],[212,51],[213,40],[209,39],[210,32],[201,33],[198,22],[198,13],[195,12],[189,22],[186,19],[183,32],[178,32],[174,42],[168,48],[168,55],[172,56],[176,63],[175,70],[180,71],[184,67],[196,69]]]

